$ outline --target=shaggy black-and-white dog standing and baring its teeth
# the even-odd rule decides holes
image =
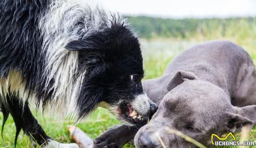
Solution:
[[[30,99],[77,120],[102,106],[143,123],[155,108],[142,78],[138,38],[118,14],[67,0],[1,0],[0,109],[4,123],[14,118],[15,145],[23,129],[43,148],[78,147],[48,137]]]

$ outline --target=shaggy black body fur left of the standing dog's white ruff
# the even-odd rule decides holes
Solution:
[[[45,79],[41,79],[45,57],[41,54],[41,31],[36,26],[46,9],[47,0],[0,2],[0,77],[7,76],[10,70],[18,69],[27,79],[26,89],[31,93],[40,92],[38,106],[45,94]],[[45,106],[46,100],[43,104]]]

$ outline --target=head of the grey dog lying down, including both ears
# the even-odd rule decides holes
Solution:
[[[177,72],[170,80],[158,111],[135,137],[137,148],[193,148],[193,144],[168,129],[178,130],[202,144],[211,143],[211,134],[234,132],[256,122],[256,105],[234,107],[219,87],[198,79],[191,72]]]

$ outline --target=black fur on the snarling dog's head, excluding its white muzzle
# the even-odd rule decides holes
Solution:
[[[79,51],[80,68],[87,69],[83,93],[78,100],[80,117],[91,112],[94,109],[91,106],[101,101],[117,104],[119,99],[116,98],[121,97],[129,102],[135,95],[143,93],[140,82],[143,78],[143,59],[139,41],[132,36],[126,26],[116,24],[104,32],[66,46],[70,51]],[[139,76],[137,82],[130,80],[132,74]]]

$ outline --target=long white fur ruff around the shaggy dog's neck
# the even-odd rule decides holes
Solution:
[[[47,63],[44,69],[47,79],[45,90],[50,80],[54,79],[53,87],[47,91],[53,90],[52,106],[59,112],[63,111],[64,116],[77,116],[76,101],[81,83],[86,79],[86,69],[78,72],[78,52],[68,51],[65,45],[109,28],[113,19],[125,24],[119,15],[111,15],[98,8],[90,9],[71,0],[53,0],[45,16],[41,17],[39,28],[43,34],[43,52]],[[77,22],[82,23],[78,25]]]

